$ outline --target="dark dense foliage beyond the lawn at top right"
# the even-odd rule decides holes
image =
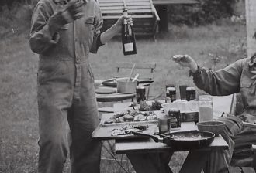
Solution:
[[[168,19],[174,24],[203,25],[234,14],[239,0],[199,0],[194,5],[169,5]]]

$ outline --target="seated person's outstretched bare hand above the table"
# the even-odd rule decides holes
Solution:
[[[197,63],[195,63],[195,60],[188,55],[175,55],[172,56],[172,60],[181,66],[189,67],[193,73],[195,73],[195,71],[198,68]]]

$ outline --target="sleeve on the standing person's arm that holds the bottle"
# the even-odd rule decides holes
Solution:
[[[100,36],[101,36],[100,29],[102,28],[102,25],[103,25],[102,13],[100,12],[100,10],[95,19],[96,19],[95,32],[93,36],[92,47],[90,49],[91,53],[97,53],[99,47],[103,45],[100,40]]]

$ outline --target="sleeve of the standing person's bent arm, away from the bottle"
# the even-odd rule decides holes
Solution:
[[[50,8],[39,3],[33,11],[29,45],[34,53],[47,52],[60,39],[57,29],[61,28],[64,18],[61,17],[61,12],[56,12],[51,16],[47,10],[50,11]]]

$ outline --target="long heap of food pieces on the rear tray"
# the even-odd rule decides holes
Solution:
[[[157,120],[157,114],[153,111],[140,112],[139,110],[127,110],[106,120],[104,124],[123,123],[132,121]]]

